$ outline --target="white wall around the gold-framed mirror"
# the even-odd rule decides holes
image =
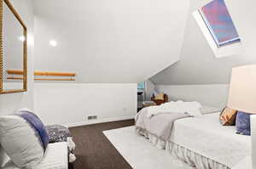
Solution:
[[[33,109],[33,8],[32,0],[11,0],[15,9],[19,12],[20,17],[27,26],[28,31],[28,54],[27,54],[27,64],[28,64],[28,91],[26,93],[11,93],[0,95],[0,115],[9,115],[13,113],[14,110],[20,109],[22,107],[28,107]],[[8,158],[3,153],[0,148],[0,167],[3,165],[4,161]]]

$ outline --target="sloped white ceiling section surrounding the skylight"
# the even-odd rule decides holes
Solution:
[[[232,67],[256,64],[255,1],[225,1],[243,43],[243,54],[216,58],[192,13],[200,8],[201,0],[193,0],[189,9],[180,60],[151,78],[156,84],[221,84],[230,82]],[[205,3],[206,4],[206,3]]]

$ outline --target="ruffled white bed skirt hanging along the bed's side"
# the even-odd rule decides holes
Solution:
[[[189,166],[195,167],[196,169],[230,169],[229,166],[220,164],[217,161],[212,161],[211,159],[203,155],[199,155],[194,151],[184,148],[183,146],[171,141],[166,142],[143,128],[136,127],[136,132],[137,134],[148,138],[149,142],[155,147],[159,149],[166,149],[175,159],[186,163]]]

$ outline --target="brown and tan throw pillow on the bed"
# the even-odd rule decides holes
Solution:
[[[235,126],[236,125],[237,110],[233,110],[229,107],[224,108],[219,115],[219,121],[223,126]]]

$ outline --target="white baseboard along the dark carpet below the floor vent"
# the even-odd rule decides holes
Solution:
[[[72,123],[72,124],[66,124],[65,126],[67,126],[67,127],[80,127],[80,126],[86,126],[86,125],[97,124],[97,123],[102,123],[102,122],[125,121],[125,120],[134,119],[134,116],[135,115],[104,118],[104,119],[98,119],[96,121],[76,122],[76,123]]]

